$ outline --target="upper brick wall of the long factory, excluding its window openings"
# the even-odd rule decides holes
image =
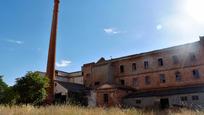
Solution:
[[[195,55],[195,60],[191,60],[191,54]],[[178,57],[175,64],[173,56]],[[159,66],[158,59],[162,58],[163,66]],[[148,61],[148,69],[144,69],[144,61]],[[120,80],[125,80],[125,85],[134,87],[138,90],[151,90],[159,88],[179,87],[186,85],[197,85],[204,83],[204,44],[195,42],[176,46],[172,48],[126,56],[122,58],[106,61],[104,64],[90,63],[82,67],[85,86],[94,86],[94,83],[108,81],[108,64],[111,63],[111,71],[114,80],[112,83],[120,84]],[[109,63],[108,63],[109,62]],[[136,63],[136,70],[132,70],[132,63]],[[120,66],[124,66],[124,72],[120,72]],[[200,78],[195,79],[192,71],[197,69]],[[176,81],[175,72],[180,72],[181,81]],[[160,82],[160,74],[165,75],[165,83]],[[145,84],[145,77],[149,76],[150,84]],[[137,85],[133,79],[137,79]]]

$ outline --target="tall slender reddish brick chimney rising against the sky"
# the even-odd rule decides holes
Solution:
[[[54,101],[54,79],[55,79],[55,60],[56,60],[56,38],[57,38],[57,22],[58,22],[59,0],[54,0],[54,11],[52,19],[52,29],[50,34],[50,44],[47,60],[46,76],[50,80],[50,86],[47,89],[47,104],[52,104]]]

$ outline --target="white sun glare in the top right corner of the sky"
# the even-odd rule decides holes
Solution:
[[[204,24],[204,0],[187,0],[186,10],[196,22]]]

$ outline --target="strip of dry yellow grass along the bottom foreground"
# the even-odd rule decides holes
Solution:
[[[0,115],[204,115],[204,112],[188,109],[155,111],[120,108],[86,108],[64,105],[47,107],[0,106]]]

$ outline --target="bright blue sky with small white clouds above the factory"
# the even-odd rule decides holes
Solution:
[[[204,35],[204,0],[61,0],[56,68],[191,43]],[[9,85],[45,71],[53,0],[0,0],[0,75]]]

